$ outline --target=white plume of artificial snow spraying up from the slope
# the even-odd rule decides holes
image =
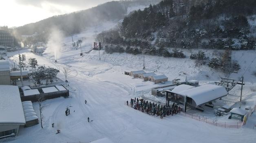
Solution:
[[[59,59],[62,51],[63,34],[60,30],[52,29],[49,35],[47,49],[44,53],[54,54],[55,60]]]

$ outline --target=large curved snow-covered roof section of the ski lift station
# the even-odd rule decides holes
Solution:
[[[207,84],[179,92],[179,94],[192,98],[194,102],[196,102],[196,105],[199,106],[214,99],[226,96],[228,93],[223,86]]]

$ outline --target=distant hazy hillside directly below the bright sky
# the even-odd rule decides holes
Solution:
[[[127,14],[128,7],[139,5],[148,6],[160,1],[161,0],[124,0],[106,2],[91,9],[57,15],[35,23],[29,23],[15,28],[15,32],[19,35],[32,35],[35,34],[35,32],[37,34],[47,34],[54,26],[62,30],[64,34],[71,35],[82,32],[90,26],[100,25],[105,21],[119,21]]]

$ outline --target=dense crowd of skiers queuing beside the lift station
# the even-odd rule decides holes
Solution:
[[[174,115],[181,112],[181,107],[173,103],[171,106],[162,106],[154,102],[148,102],[143,98],[134,98],[129,102],[126,101],[127,106],[130,106],[136,110],[148,113],[150,115],[160,116],[160,118],[165,117],[166,115]]]

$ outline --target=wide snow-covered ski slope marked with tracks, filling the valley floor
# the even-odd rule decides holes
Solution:
[[[110,24],[111,25],[111,24]],[[99,28],[97,29],[99,31]],[[82,50],[90,51],[93,36],[91,31],[73,36],[80,39],[85,37]],[[91,37],[91,38],[88,38]],[[91,39],[91,40],[89,40]],[[75,39],[76,41],[76,39]],[[70,90],[69,98],[56,98],[44,101],[43,126],[21,128],[19,136],[10,143],[66,143],[84,142],[108,138],[114,143],[255,143],[256,130],[252,130],[256,123],[256,115],[249,118],[247,125],[242,128],[221,128],[199,122],[183,115],[170,117],[154,117],[141,113],[125,104],[130,98],[139,97],[142,92],[149,92],[150,88],[157,85],[145,82],[142,79],[133,79],[124,75],[124,71],[141,70],[143,57],[129,54],[106,54],[100,51],[101,60],[98,60],[98,51],[90,51],[79,56],[80,49],[71,48],[72,39],[64,39],[66,47],[61,52],[61,57],[55,58],[53,53],[43,56],[29,53],[29,50],[20,51],[26,54],[26,59],[31,57],[38,60],[38,64],[61,69],[68,66],[71,74],[68,76]],[[185,51],[189,53],[190,51]],[[208,56],[214,51],[207,51]],[[18,60],[18,52],[8,53]],[[241,70],[232,77],[238,78],[250,64],[255,51],[234,51],[233,57],[240,58]],[[26,61],[27,62],[27,61]],[[245,74],[244,95],[250,97],[255,104],[255,92],[251,92],[250,86],[256,85],[256,78],[252,71],[256,70],[256,64],[252,64]],[[166,74],[169,80],[175,78],[198,79],[200,84],[213,83],[222,74],[207,66],[196,67],[194,61],[185,58],[163,58],[146,55],[146,72],[156,71],[157,74]],[[207,75],[207,76],[206,76]],[[64,79],[64,75],[58,75]],[[231,91],[234,100],[239,98],[239,88]],[[233,96],[232,96],[233,97]],[[231,98],[233,100],[233,98]],[[85,105],[84,100],[87,100]],[[37,103],[33,103],[35,111],[39,115]],[[69,106],[71,115],[65,115],[65,109]],[[88,123],[87,117],[93,122]],[[250,120],[251,119],[251,120]],[[51,124],[55,126],[52,128]],[[56,130],[60,134],[55,134]]]

